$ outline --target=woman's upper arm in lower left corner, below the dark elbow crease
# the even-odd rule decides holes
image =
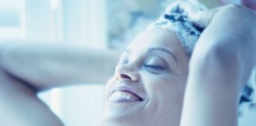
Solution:
[[[0,125],[62,126],[62,121],[36,96],[28,83],[0,68]]]

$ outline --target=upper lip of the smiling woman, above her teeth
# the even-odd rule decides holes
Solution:
[[[137,96],[137,98],[139,99],[139,101],[143,101],[144,99],[141,97],[140,94],[138,94],[138,91],[132,87],[128,87],[128,86],[115,86],[112,87],[109,94],[107,95],[107,99],[113,94],[115,93],[115,91],[128,91],[132,94],[134,94],[135,96]]]

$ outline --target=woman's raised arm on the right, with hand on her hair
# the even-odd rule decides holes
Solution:
[[[189,13],[206,27],[190,60],[182,126],[237,126],[239,92],[256,62],[256,16],[244,6]]]

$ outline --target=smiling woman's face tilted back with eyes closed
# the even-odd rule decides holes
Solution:
[[[157,28],[137,35],[107,82],[102,124],[178,126],[188,62],[175,32]]]

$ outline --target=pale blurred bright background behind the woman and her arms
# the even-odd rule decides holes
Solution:
[[[172,1],[0,0],[0,41],[73,43],[122,50]],[[229,2],[242,3],[239,0],[201,2],[209,8]],[[55,88],[39,96],[67,126],[95,126],[104,106],[104,83]],[[240,119],[240,126],[256,125],[252,119],[256,110],[247,109],[247,113]]]

